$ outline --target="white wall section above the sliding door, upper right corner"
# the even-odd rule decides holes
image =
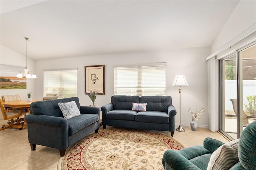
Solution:
[[[212,53],[256,23],[256,1],[240,0],[212,44]]]

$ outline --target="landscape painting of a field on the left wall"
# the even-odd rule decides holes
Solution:
[[[26,89],[26,78],[18,78],[17,74],[24,67],[0,64],[0,89]]]

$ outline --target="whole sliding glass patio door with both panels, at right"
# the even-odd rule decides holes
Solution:
[[[256,120],[256,44],[220,60],[220,131],[239,138]]]

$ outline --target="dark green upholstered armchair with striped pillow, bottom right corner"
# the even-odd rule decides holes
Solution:
[[[221,162],[220,164],[227,164],[228,160],[235,160],[230,168],[226,168],[230,170],[256,170],[256,121],[243,130],[240,139],[237,141],[239,142],[236,144],[236,150],[233,150],[233,152],[236,152],[236,158],[233,159],[230,154],[221,157],[223,155],[218,153],[218,161]],[[165,170],[224,170],[225,168],[220,168],[220,165],[217,165],[218,161],[212,161],[217,151],[221,150],[222,152],[224,150],[224,146],[227,146],[227,144],[208,137],[204,139],[203,146],[196,145],[178,151],[166,150],[162,158],[162,164]],[[214,162],[213,168],[208,167],[209,162]]]

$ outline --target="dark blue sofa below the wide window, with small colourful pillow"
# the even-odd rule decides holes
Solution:
[[[132,103],[147,103],[146,111],[132,111]],[[170,96],[114,95],[101,107],[102,125],[170,131],[174,135],[176,110]]]

